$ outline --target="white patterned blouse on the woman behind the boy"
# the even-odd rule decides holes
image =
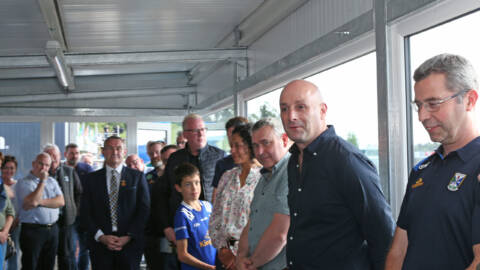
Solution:
[[[250,203],[258,181],[261,178],[260,168],[253,167],[240,187],[240,174],[242,169],[235,167],[226,171],[217,187],[217,197],[213,204],[210,216],[209,231],[213,246],[217,249],[228,247],[230,238],[240,239],[243,228],[247,225],[250,215]],[[238,241],[231,247],[237,253]]]

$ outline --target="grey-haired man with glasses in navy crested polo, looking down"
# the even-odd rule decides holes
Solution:
[[[418,120],[441,145],[410,173],[385,269],[479,269],[477,75],[467,59],[441,54],[413,78]]]

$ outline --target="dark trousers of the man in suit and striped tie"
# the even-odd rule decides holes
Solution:
[[[142,253],[143,244],[132,241],[120,251],[109,250],[104,244],[95,242],[90,248],[90,262],[93,270],[139,270]]]

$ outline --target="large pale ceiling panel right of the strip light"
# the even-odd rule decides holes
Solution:
[[[70,52],[213,48],[262,0],[66,0]]]

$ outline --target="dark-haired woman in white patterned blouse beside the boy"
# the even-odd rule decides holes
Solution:
[[[238,239],[247,225],[253,192],[260,180],[260,164],[254,158],[250,125],[235,128],[231,152],[237,167],[225,172],[218,183],[210,216],[210,237],[226,269],[234,269]]]

